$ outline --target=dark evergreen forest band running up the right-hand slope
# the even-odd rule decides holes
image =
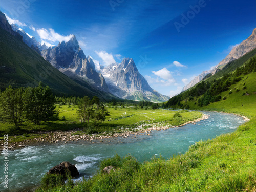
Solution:
[[[256,72],[256,59],[251,58],[245,66],[237,68],[233,73],[225,74],[222,78],[214,79],[213,81],[202,81],[197,84],[196,87],[191,88],[177,96],[172,97],[166,104],[168,107],[179,106],[180,108],[188,108],[187,105],[181,103],[182,100],[189,99],[193,100],[194,97],[202,96],[198,99],[199,106],[207,106],[211,102],[217,102],[221,100],[219,95],[221,92],[228,90],[228,88],[237,82],[239,82],[242,77],[241,75],[247,75],[249,73]],[[244,86],[243,89],[246,89]],[[239,90],[236,90],[239,91]],[[223,98],[225,99],[225,98]]]

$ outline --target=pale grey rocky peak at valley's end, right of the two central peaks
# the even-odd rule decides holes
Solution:
[[[163,102],[169,99],[153,90],[139,73],[134,60],[125,58],[120,64],[113,63],[101,69],[109,90],[124,99]]]

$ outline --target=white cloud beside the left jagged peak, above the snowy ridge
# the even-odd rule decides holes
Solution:
[[[40,38],[42,40],[47,40],[50,41],[52,43],[54,42],[62,42],[62,41],[69,41],[73,35],[68,35],[68,36],[63,36],[60,35],[59,33],[56,33],[53,29],[49,29],[49,31],[45,28],[41,28],[41,29],[37,29],[36,32],[38,33],[38,35],[40,36]]]

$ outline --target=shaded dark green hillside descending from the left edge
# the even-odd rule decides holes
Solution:
[[[75,82],[54,68],[24,42],[0,28],[0,90],[8,86],[34,87],[41,81],[58,96],[98,96],[111,100],[113,95],[92,88],[86,81]]]

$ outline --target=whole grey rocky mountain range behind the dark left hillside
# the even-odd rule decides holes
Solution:
[[[149,86],[145,78],[139,73],[133,59],[125,58],[120,64],[113,63],[106,67],[101,66],[99,65],[99,62],[94,60],[92,57],[86,57],[75,36],[67,42],[59,42],[57,46],[47,47],[45,44],[41,45],[36,41],[34,36],[29,35],[16,25],[11,26],[2,12],[0,12],[0,27],[22,40],[28,47],[36,51],[39,57],[42,56],[42,58],[51,63],[51,66],[67,75],[70,82],[78,83],[80,86],[84,86],[86,84],[88,89],[93,90],[91,92],[97,92],[95,93],[96,95],[108,93],[109,95],[112,95],[112,98],[131,99],[137,101],[147,100],[152,102],[164,102],[169,99],[168,96],[158,93]],[[24,45],[22,46],[24,47]],[[14,48],[9,46],[8,49]],[[25,55],[22,56],[26,57]],[[6,60],[8,60],[7,55]],[[24,58],[24,60],[26,59]],[[41,62],[41,59],[39,60]],[[38,62],[35,61],[34,63]],[[13,71],[17,71],[18,67],[15,65],[18,64],[13,62],[12,65]],[[31,62],[30,65],[36,66],[37,64],[33,64],[33,62]],[[41,65],[44,66],[45,64]],[[4,65],[2,67],[7,66]],[[54,73],[51,74],[51,76],[56,75],[56,70],[53,71]],[[59,73],[57,74],[59,75]],[[39,74],[33,75],[36,77],[39,76]],[[24,76],[24,78],[25,77],[26,76]],[[11,78],[11,76],[9,78]],[[17,82],[16,80],[18,78],[22,78],[22,76],[16,76],[15,78],[13,77],[13,82]],[[3,81],[5,83],[2,83],[2,87],[4,84],[7,86],[7,79]],[[66,79],[66,81],[68,81],[68,79]],[[57,90],[57,87],[55,87],[55,89]],[[81,95],[80,93],[70,93],[73,95]]]

